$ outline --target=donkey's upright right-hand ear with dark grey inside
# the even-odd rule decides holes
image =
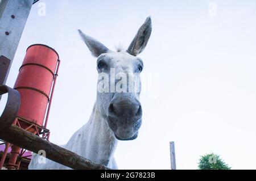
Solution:
[[[127,52],[133,56],[137,56],[139,53],[141,53],[147,45],[147,41],[151,35],[151,30],[151,18],[149,16],[144,24],[142,24],[141,28],[139,28],[139,31],[131,42]]]

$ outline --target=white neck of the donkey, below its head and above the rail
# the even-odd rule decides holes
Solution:
[[[98,111],[97,103],[94,104],[90,120],[86,124],[86,158],[91,161],[108,166],[113,159],[113,154],[118,140],[109,128],[106,117]]]

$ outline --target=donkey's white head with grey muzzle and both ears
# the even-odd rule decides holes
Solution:
[[[113,52],[79,30],[85,44],[97,57],[97,106],[118,140],[134,140],[142,124],[140,73],[143,62],[137,55],[151,35],[151,19],[139,28],[126,51]]]

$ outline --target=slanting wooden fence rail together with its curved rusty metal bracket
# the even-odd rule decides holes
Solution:
[[[46,151],[46,158],[71,169],[100,169],[108,170],[104,165],[93,163],[80,155],[67,149],[61,148],[51,142],[44,140],[22,128],[13,125],[13,121],[19,109],[19,92],[7,86],[0,86],[0,95],[8,93],[5,110],[0,117],[0,139],[17,145],[20,148],[38,153],[39,150]]]

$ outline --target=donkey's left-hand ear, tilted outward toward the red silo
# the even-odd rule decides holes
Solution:
[[[82,37],[82,40],[84,40],[84,43],[87,45],[94,57],[98,57],[102,53],[108,53],[110,51],[102,43],[100,43],[100,41],[97,41],[96,39],[93,39],[93,37],[85,35],[81,30],[78,31],[80,36]]]

